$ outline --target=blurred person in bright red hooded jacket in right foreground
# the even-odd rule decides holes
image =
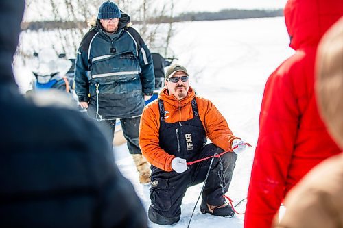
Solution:
[[[244,227],[270,228],[289,190],[322,160],[340,153],[318,113],[318,42],[343,14],[342,0],[289,0],[285,23],[296,53],[270,75],[261,105]]]

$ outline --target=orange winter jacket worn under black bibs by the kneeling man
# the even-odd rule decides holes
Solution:
[[[225,151],[230,149],[233,140],[237,137],[233,136],[232,131],[228,128],[228,123],[215,105],[208,99],[196,96],[191,87],[189,87],[187,97],[180,101],[174,95],[169,96],[167,88],[164,88],[158,95],[158,99],[164,102],[165,122],[178,123],[192,119],[191,101],[194,97],[196,97],[200,120],[206,131],[206,136],[217,147]],[[165,171],[172,171],[171,160],[175,156],[169,155],[159,146],[159,117],[158,100],[156,99],[143,110],[139,126],[139,146],[150,164]]]

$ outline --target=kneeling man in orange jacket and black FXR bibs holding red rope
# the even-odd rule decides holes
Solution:
[[[180,220],[182,198],[188,187],[204,181],[211,160],[191,166],[187,162],[220,154],[215,158],[202,193],[201,212],[233,216],[224,193],[233,175],[237,154],[246,144],[233,136],[224,117],[211,101],[196,96],[189,86],[185,67],[171,66],[165,88],[143,111],[139,145],[152,164],[152,188],[148,217],[153,223],[170,225]],[[206,137],[213,142],[206,144]]]

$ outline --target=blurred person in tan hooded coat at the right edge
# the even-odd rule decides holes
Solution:
[[[327,31],[316,58],[318,107],[329,133],[343,150],[343,17]],[[305,175],[285,199],[277,228],[343,227],[343,154],[335,155]]]

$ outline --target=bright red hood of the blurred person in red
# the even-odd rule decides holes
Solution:
[[[325,31],[343,15],[343,1],[289,0],[284,14],[290,47],[317,46]]]

